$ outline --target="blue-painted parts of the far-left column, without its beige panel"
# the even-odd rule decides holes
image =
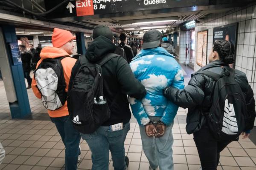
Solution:
[[[26,90],[25,78],[23,75],[22,64],[14,65],[12,60],[12,53],[9,43],[17,42],[15,26],[1,25],[3,36],[6,43],[6,51],[9,58],[9,63],[12,71],[12,77],[15,86],[17,101],[10,103],[10,110],[12,118],[25,118],[31,115],[29,106],[29,98]]]

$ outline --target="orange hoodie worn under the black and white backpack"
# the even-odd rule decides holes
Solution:
[[[40,57],[41,59],[38,61],[36,68],[39,66],[39,64],[43,61],[43,59],[45,58],[58,58],[58,57],[63,57],[65,55],[69,55],[65,50],[60,49],[60,48],[56,48],[56,47],[44,47],[40,53]],[[71,71],[73,66],[76,63],[76,59],[71,58],[71,57],[67,57],[61,60],[61,64],[63,67],[63,72],[64,72],[64,78],[65,78],[65,83],[66,83],[66,92],[68,90],[68,84],[70,81],[70,75],[71,75]],[[35,81],[35,75],[33,76],[32,79],[32,90],[35,94],[35,96],[39,99],[42,98],[41,93],[39,92],[38,88],[36,87],[36,81]],[[57,110],[48,110],[49,116],[52,118],[58,118],[58,117],[62,117],[62,116],[67,116],[69,115],[68,113],[68,109],[67,109],[67,101],[65,102],[64,106],[57,109]]]

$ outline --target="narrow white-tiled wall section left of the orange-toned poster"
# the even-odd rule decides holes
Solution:
[[[190,31],[180,31],[179,32],[179,63],[186,63],[186,44],[190,43]],[[187,56],[187,64],[189,63],[189,54]]]

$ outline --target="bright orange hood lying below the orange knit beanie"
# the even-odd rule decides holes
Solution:
[[[64,49],[60,49],[52,46],[44,47],[40,53],[40,57],[43,59],[58,58],[58,57],[63,57],[67,55],[69,56],[69,54]]]

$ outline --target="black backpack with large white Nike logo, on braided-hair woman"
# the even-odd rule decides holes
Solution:
[[[207,75],[216,81],[212,106],[205,115],[210,131],[218,140],[237,140],[249,114],[241,87],[234,78],[235,69],[224,68],[221,75],[207,70],[197,74]]]

